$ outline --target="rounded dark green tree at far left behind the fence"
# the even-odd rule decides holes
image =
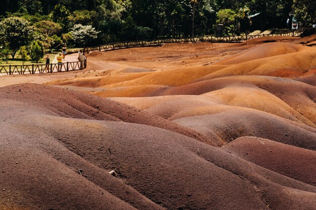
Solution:
[[[6,18],[0,22],[0,37],[8,43],[12,58],[21,46],[26,46],[33,39],[33,28],[30,23],[19,17]]]

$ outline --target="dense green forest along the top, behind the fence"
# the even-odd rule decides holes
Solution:
[[[308,0],[4,0],[0,8],[2,56],[109,42],[287,28],[294,8],[305,27],[315,21]],[[249,16],[257,14],[256,23]],[[22,51],[21,51],[22,50]],[[23,51],[24,50],[24,51]],[[27,53],[30,51],[30,53]]]

